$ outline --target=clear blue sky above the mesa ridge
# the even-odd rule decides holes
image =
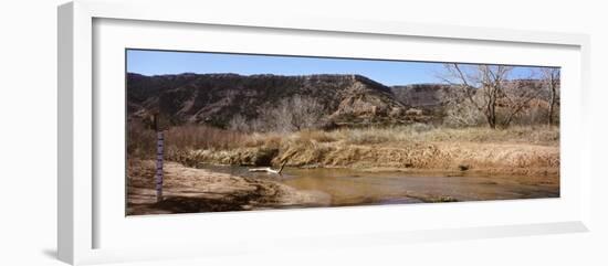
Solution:
[[[516,67],[514,76],[528,76],[530,67]],[[385,85],[440,83],[441,63],[270,56],[200,52],[127,50],[127,72],[144,75],[180,73],[359,74]]]

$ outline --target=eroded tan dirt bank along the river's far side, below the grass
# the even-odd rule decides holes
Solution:
[[[250,147],[231,150],[186,150],[172,160],[185,166],[202,163],[279,166],[298,168],[353,168],[405,172],[458,172],[478,174],[558,175],[559,148],[528,143],[380,143],[293,142],[279,148]]]

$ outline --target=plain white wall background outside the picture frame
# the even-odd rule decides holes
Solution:
[[[0,265],[63,265],[56,242],[56,6],[3,1],[0,9]],[[334,18],[589,33],[594,128],[591,233],[324,252],[245,254],[128,265],[608,265],[608,11],[602,1],[209,1],[235,15],[290,10]],[[170,12],[170,10],[168,10]]]

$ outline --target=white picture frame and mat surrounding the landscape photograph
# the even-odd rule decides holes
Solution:
[[[171,10],[171,12],[166,12]],[[232,254],[269,248],[323,248],[324,246],[365,246],[386,243],[408,243],[443,240],[468,240],[479,237],[499,237],[532,234],[568,233],[588,231],[590,219],[590,143],[586,138],[586,128],[589,124],[586,120],[586,103],[588,103],[589,82],[589,38],[584,34],[573,33],[548,33],[533,31],[516,31],[504,29],[464,28],[452,25],[413,24],[388,21],[365,21],[365,20],[334,20],[324,18],[312,18],[293,14],[277,14],[276,17],[247,17],[233,15],[228,10],[209,10],[200,1],[166,1],[140,2],[140,1],[94,1],[80,0],[66,3],[59,8],[59,184],[57,184],[57,249],[59,258],[70,264],[93,264],[104,262],[124,262],[134,259],[174,258],[190,256],[211,256],[217,254]],[[114,23],[113,21],[118,21]],[[109,23],[106,23],[109,22]],[[134,26],[126,24],[132,23]],[[96,24],[97,23],[97,24]],[[99,24],[101,23],[101,24]],[[105,23],[105,24],[104,24]],[[108,26],[109,24],[109,26]],[[164,26],[166,25],[166,26]],[[96,26],[105,26],[103,31],[96,31]],[[122,26],[122,28],[120,28]],[[541,51],[536,61],[552,61],[549,53],[555,49],[563,51],[560,66],[565,67],[572,79],[565,82],[563,128],[566,131],[562,135],[562,180],[563,193],[557,200],[533,200],[533,201],[510,201],[510,202],[472,202],[445,204],[422,204],[416,206],[371,206],[371,208],[348,208],[331,210],[298,210],[298,211],[272,211],[272,212],[248,212],[227,214],[188,214],[188,215],[161,215],[141,219],[130,219],[113,213],[116,211],[117,201],[106,203],[108,198],[104,191],[123,190],[124,188],[112,187],[113,183],[101,181],[99,158],[119,157],[108,152],[98,153],[101,145],[107,143],[105,137],[119,127],[119,123],[105,127],[103,120],[107,113],[99,114],[99,110],[107,110],[104,106],[112,104],[122,106],[124,103],[115,99],[114,96],[95,91],[99,85],[99,78],[95,75],[106,76],[106,68],[117,67],[112,52],[106,55],[106,50],[96,49],[95,45],[107,45],[127,47],[128,38],[120,34],[145,31],[143,28],[163,28],[167,34],[185,31],[198,31],[202,28],[226,26],[226,30],[217,34],[231,34],[230,29],[237,29],[234,34],[242,34],[240,29],[248,33],[264,34],[277,32],[277,38],[290,35],[293,39],[313,39],[316,35],[340,39],[347,36],[349,40],[364,40],[370,43],[386,42],[386,38],[395,38],[397,42],[401,39],[430,40],[441,43],[464,43],[463,45],[486,45],[488,51],[518,51],[522,54],[533,56],[533,52]],[[114,31],[112,29],[123,29]],[[102,28],[97,28],[102,29]],[[118,34],[118,33],[120,34]],[[116,33],[116,34],[115,34]],[[269,33],[270,34],[270,33]],[[196,34],[195,34],[196,35]],[[99,41],[102,38],[104,40]],[[177,38],[176,40],[187,40]],[[195,39],[192,39],[195,40]],[[279,39],[276,39],[279,40]],[[283,40],[283,39],[282,39]],[[290,38],[286,38],[289,42]],[[99,42],[97,42],[99,41]],[[343,40],[344,41],[344,40]],[[134,41],[135,42],[135,41]],[[197,50],[198,44],[164,43],[158,36],[148,34],[146,38],[138,38],[138,45],[146,47],[163,49],[164,45],[177,45],[186,50]],[[342,42],[342,41],[336,41]],[[255,41],[251,47],[255,50]],[[217,44],[221,45],[221,41]],[[263,44],[263,41],[260,41]],[[413,44],[412,44],[413,45]],[[271,49],[269,45],[265,49]],[[315,55],[335,55],[337,50],[327,49],[324,51],[311,45],[310,50],[300,47],[300,53],[314,53]],[[329,45],[331,46],[331,45]],[[356,46],[356,45],[355,45]],[[228,47],[227,47],[228,49]],[[243,47],[233,46],[229,50]],[[260,47],[262,49],[262,47]],[[520,49],[520,50],[518,50]],[[216,46],[217,50],[217,46]],[[296,50],[294,50],[296,51]],[[364,51],[363,49],[360,50]],[[449,50],[445,50],[449,51]],[[482,47],[483,51],[483,47]],[[486,51],[486,53],[488,53]],[[527,52],[526,52],[527,51]],[[234,51],[224,51],[234,52]],[[242,51],[241,51],[242,52]],[[251,51],[247,51],[251,52]],[[289,51],[282,51],[289,52]],[[344,51],[344,56],[357,52],[356,50]],[[99,63],[99,54],[104,53],[104,62]],[[277,51],[276,53],[281,53]],[[324,54],[325,53],[325,54]],[[463,53],[467,54],[467,53]],[[472,54],[472,53],[470,53]],[[481,53],[483,55],[483,53]],[[350,54],[352,55],[352,54]],[[371,55],[370,55],[371,56]],[[378,56],[391,56],[390,54],[376,54]],[[410,58],[411,54],[403,54],[402,58]],[[422,56],[422,55],[420,55]],[[427,60],[432,60],[427,55]],[[438,55],[439,56],[439,55]],[[472,55],[462,55],[472,56]],[[543,57],[544,56],[544,57]],[[423,56],[422,56],[423,57]],[[523,58],[522,55],[507,54],[495,60],[507,60],[507,63],[527,62],[531,58]],[[471,60],[473,57],[469,57]],[[116,57],[116,60],[118,60]],[[124,60],[124,57],[123,57]],[[458,60],[458,58],[454,58]],[[478,61],[483,61],[483,56]],[[526,61],[527,60],[527,61]],[[557,62],[557,63],[559,63]],[[124,62],[123,62],[124,63]],[[500,62],[504,63],[504,62]],[[101,65],[97,65],[101,64]],[[104,64],[106,64],[104,66]],[[122,67],[122,66],[120,66]],[[108,74],[109,76],[112,75]],[[104,79],[104,83],[105,79]],[[111,82],[107,82],[111,83]],[[119,97],[119,96],[118,96]],[[118,113],[117,113],[118,114]],[[119,115],[119,114],[118,114]],[[124,124],[123,124],[124,125]],[[124,129],[123,129],[124,130]],[[116,130],[114,130],[116,131]],[[99,140],[101,138],[101,140]],[[101,141],[101,142],[99,142]],[[106,141],[106,142],[104,142]],[[119,143],[122,145],[122,143]],[[107,151],[107,149],[106,149]],[[567,153],[566,153],[567,152]],[[102,160],[103,161],[103,160]],[[124,162],[123,162],[124,163]],[[103,164],[103,162],[102,162]],[[116,168],[119,169],[119,166]],[[117,196],[119,198],[119,196]],[[105,210],[105,211],[104,211]],[[515,217],[504,219],[501,213],[493,213],[492,210],[500,210],[504,215],[517,210]],[[545,210],[546,215],[539,215],[538,211]],[[116,211],[116,212],[115,212]],[[119,210],[124,213],[124,210]],[[467,216],[481,220],[483,215],[490,214],[484,221],[468,222],[462,219],[443,221],[447,215],[450,217]],[[494,215],[495,214],[495,215]],[[113,217],[107,217],[114,215]],[[416,217],[434,217],[441,222],[429,222],[423,219],[413,219],[407,224],[409,228],[399,230],[402,221],[394,219],[395,222],[384,222],[381,228],[339,226],[338,223],[328,222],[319,224],[311,222],[310,227],[302,231],[294,231],[286,223],[298,223],[301,221],[327,219],[340,221],[365,217],[366,222],[377,224],[386,221],[387,217],[410,215]],[[260,232],[240,232],[232,234],[219,234],[222,226],[242,223],[260,224]],[[411,219],[410,219],[411,220]],[[268,226],[269,221],[280,221],[275,226]],[[196,226],[213,226],[214,232],[200,230],[192,232]],[[104,224],[101,226],[99,224]],[[177,225],[177,228],[176,228]],[[357,225],[355,223],[355,225]],[[376,227],[378,227],[376,225]],[[219,227],[218,227],[219,226]],[[158,241],[146,237],[146,232],[155,228],[154,235],[163,240],[164,245],[159,246]],[[171,230],[172,228],[172,230]],[[219,230],[218,230],[219,228]],[[140,230],[140,231],[138,231]],[[148,231],[146,231],[148,230]],[[271,231],[272,230],[272,231]],[[270,233],[268,233],[270,232]],[[241,233],[241,235],[238,235]],[[150,233],[151,234],[151,233]],[[199,235],[201,234],[201,235]],[[203,234],[203,235],[202,235]],[[201,237],[203,236],[203,237]],[[123,237],[124,240],[122,240]],[[222,241],[222,237],[224,240]],[[256,237],[255,245],[248,240]],[[99,240],[108,240],[101,243]],[[118,243],[118,242],[124,243]],[[363,241],[365,240],[365,241]],[[107,244],[105,244],[107,243]],[[124,245],[123,245],[124,244]]]

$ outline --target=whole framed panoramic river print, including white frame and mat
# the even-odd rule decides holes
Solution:
[[[59,9],[62,260],[587,231],[586,35],[138,6]]]

